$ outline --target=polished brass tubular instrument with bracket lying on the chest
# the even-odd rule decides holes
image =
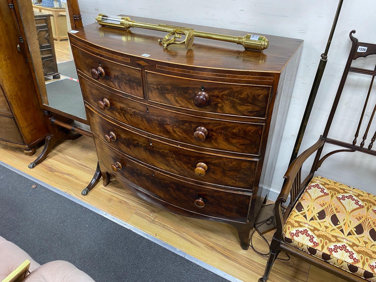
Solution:
[[[262,51],[268,48],[269,40],[265,36],[247,34],[244,36],[223,35],[211,32],[203,32],[193,30],[191,28],[171,26],[168,24],[148,24],[132,21],[129,17],[111,16],[106,14],[99,14],[96,17],[96,22],[101,26],[118,27],[121,29],[130,29],[131,27],[140,27],[143,29],[152,29],[167,32],[167,35],[159,39],[163,48],[166,49],[171,44],[185,44],[187,50],[192,48],[194,36],[201,38],[214,39],[219,41],[233,42],[242,45],[245,49]],[[176,39],[185,38],[182,41]]]

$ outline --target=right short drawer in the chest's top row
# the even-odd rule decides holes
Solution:
[[[149,101],[199,112],[265,118],[270,86],[209,82],[146,72]]]

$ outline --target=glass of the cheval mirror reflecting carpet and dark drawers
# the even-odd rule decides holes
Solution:
[[[42,103],[86,120],[81,88],[68,41],[71,25],[67,3],[64,0],[31,2],[34,23],[33,27],[30,26],[27,30],[25,27],[25,30],[28,33],[27,40]]]

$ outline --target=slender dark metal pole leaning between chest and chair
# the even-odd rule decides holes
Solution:
[[[294,159],[296,159],[296,157],[298,156],[300,144],[302,144],[302,139],[303,139],[303,136],[304,136],[307,124],[308,124],[309,116],[311,115],[313,104],[316,99],[318,87],[320,86],[320,82],[324,74],[329,47],[330,47],[330,44],[332,43],[332,38],[333,38],[335,27],[337,26],[338,17],[341,12],[342,3],[343,3],[343,0],[340,0],[340,2],[338,3],[337,12],[335,13],[332,30],[330,32],[329,39],[326,44],[326,49],[325,49],[325,52],[321,54],[320,63],[318,64],[318,67],[317,67],[316,76],[315,76],[315,79],[313,80],[313,84],[311,88],[311,93],[309,93],[307,106],[303,114],[302,123],[300,124],[299,132],[298,132],[298,135],[296,136],[294,150],[291,155],[290,163],[288,165],[291,165]]]

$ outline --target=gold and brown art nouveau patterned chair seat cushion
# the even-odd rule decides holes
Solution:
[[[376,282],[376,196],[315,176],[286,221],[284,240]]]

